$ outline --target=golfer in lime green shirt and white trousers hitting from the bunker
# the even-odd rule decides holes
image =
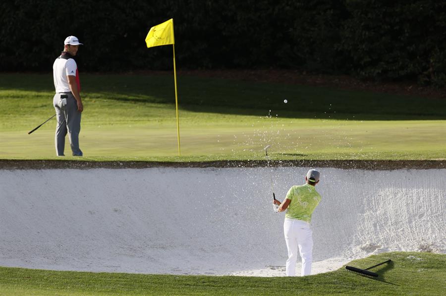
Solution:
[[[274,204],[279,205],[279,211],[285,211],[283,232],[285,234],[288,260],[286,260],[286,275],[296,274],[297,255],[302,257],[301,276],[311,274],[313,260],[313,232],[310,229],[311,214],[321,201],[321,195],[315,186],[319,183],[319,171],[310,169],[305,176],[306,184],[292,186],[283,203],[278,200]]]

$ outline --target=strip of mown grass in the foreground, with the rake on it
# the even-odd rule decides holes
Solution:
[[[392,252],[347,265],[373,269],[378,278],[344,267],[306,277],[143,275],[0,267],[0,295],[442,295],[446,255]],[[443,291],[443,292],[442,292]]]

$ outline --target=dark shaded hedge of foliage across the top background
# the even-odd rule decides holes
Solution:
[[[145,47],[174,19],[178,68],[288,68],[375,80],[446,82],[446,2],[165,0],[0,3],[0,71],[51,71],[63,40],[81,71],[166,70],[171,46]]]

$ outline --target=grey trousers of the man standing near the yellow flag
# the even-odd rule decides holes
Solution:
[[[64,94],[68,95],[66,105],[64,107],[60,107],[60,96]],[[81,113],[77,111],[77,102],[74,95],[71,92],[56,93],[53,98],[53,105],[56,109],[57,118],[55,137],[56,155],[64,156],[63,150],[65,149],[65,135],[68,133],[68,139],[70,140],[73,156],[82,156],[82,151],[79,149]]]

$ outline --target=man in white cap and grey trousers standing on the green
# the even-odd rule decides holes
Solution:
[[[81,113],[84,110],[80,97],[79,71],[74,56],[79,49],[79,40],[74,36],[65,39],[63,51],[53,64],[56,94],[53,106],[56,109],[56,155],[64,156],[65,135],[68,133],[73,156],[82,156],[79,148]]]

